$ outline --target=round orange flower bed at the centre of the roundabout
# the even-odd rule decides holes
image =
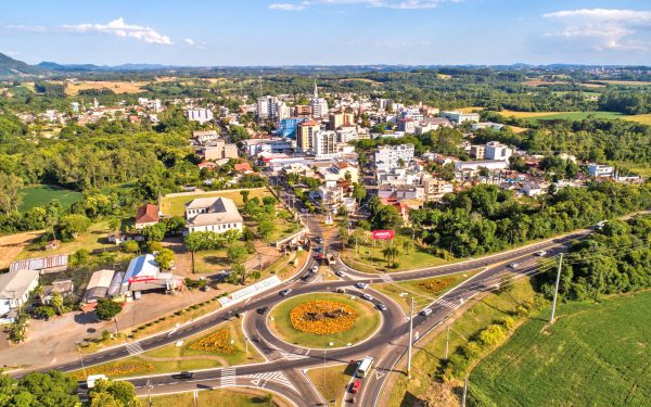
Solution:
[[[318,300],[303,303],[290,311],[294,329],[317,335],[344,332],[353,328],[357,311],[337,301]]]

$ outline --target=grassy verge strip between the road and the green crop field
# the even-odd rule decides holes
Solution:
[[[533,298],[534,290],[528,280],[514,284],[509,293],[489,293],[463,313],[450,329],[450,355],[457,346],[463,345],[467,338],[471,338],[494,320],[513,311],[522,302]],[[474,301],[474,300],[473,300]],[[407,407],[416,406],[419,395],[429,391],[432,377],[435,377],[445,358],[445,330],[425,336],[414,346],[412,358],[412,379],[407,380],[403,373],[392,373],[385,391],[391,389],[388,406]],[[501,404],[507,405],[507,404]]]

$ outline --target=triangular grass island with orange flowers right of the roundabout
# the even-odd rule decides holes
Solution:
[[[463,281],[468,280],[480,270],[468,272],[458,272],[450,276],[443,276],[432,279],[401,281],[394,283],[372,284],[371,287],[388,296],[398,303],[403,309],[409,310],[411,297],[413,297],[413,306],[416,309],[421,309],[432,303],[444,292],[451,290]],[[407,295],[400,295],[407,293]]]

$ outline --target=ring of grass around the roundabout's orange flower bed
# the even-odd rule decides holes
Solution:
[[[357,319],[353,327],[344,332],[326,335],[317,335],[294,329],[290,321],[290,311],[303,303],[317,300],[337,301],[354,307],[357,311]],[[380,326],[380,311],[368,301],[334,293],[312,293],[290,297],[278,304],[269,313],[268,318],[269,329],[279,338],[305,347],[328,347],[330,342],[333,343],[333,347],[343,347],[348,343],[358,343],[375,332]]]

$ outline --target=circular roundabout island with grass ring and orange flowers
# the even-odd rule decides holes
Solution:
[[[308,348],[346,347],[369,339],[382,325],[373,304],[345,294],[310,293],[284,300],[267,319],[279,340]]]

